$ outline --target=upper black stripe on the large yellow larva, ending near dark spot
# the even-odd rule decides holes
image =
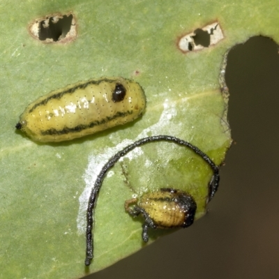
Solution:
[[[115,82],[115,80],[108,80],[107,78],[103,78],[103,79],[100,79],[100,80],[90,80],[89,82],[86,82],[84,84],[79,84],[79,85],[70,87],[69,89],[67,89],[65,91],[61,91],[59,93],[56,93],[56,94],[54,94],[52,96],[49,96],[45,100],[41,100],[39,103],[36,103],[35,105],[33,105],[33,107],[31,107],[31,109],[29,110],[29,113],[33,112],[33,110],[35,110],[36,107],[38,107],[40,105],[47,105],[49,100],[52,100],[52,99],[60,100],[65,94],[73,94],[77,89],[85,89],[90,84],[98,85],[101,82],[110,82],[110,83],[112,83],[112,82]]]

